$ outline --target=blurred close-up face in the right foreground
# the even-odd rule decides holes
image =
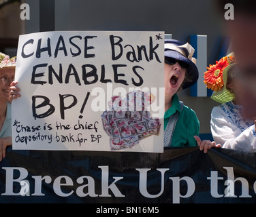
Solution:
[[[241,98],[244,117],[256,117],[256,16],[237,14],[227,27],[244,84]]]

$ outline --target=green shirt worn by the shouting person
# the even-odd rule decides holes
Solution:
[[[197,146],[197,142],[193,136],[199,135],[199,121],[195,112],[188,106],[183,106],[180,112],[180,102],[177,94],[172,97],[172,106],[165,111],[164,115],[164,129],[169,121],[169,117],[179,113],[178,121],[176,123],[174,134],[172,136],[172,146]]]

